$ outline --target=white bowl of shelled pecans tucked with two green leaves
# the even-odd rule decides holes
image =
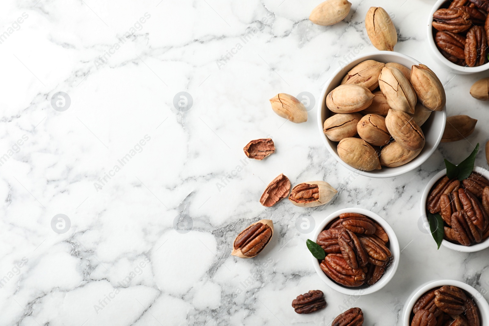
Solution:
[[[449,179],[446,169],[436,174],[422,194],[421,214],[426,223],[428,213],[440,214],[444,220],[443,246],[462,252],[488,248],[489,172],[476,166],[462,181]]]

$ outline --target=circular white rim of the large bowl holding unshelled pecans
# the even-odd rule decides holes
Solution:
[[[349,64],[351,64],[352,62],[361,62],[361,61],[369,60],[370,57],[372,57],[372,56],[378,56],[378,55],[380,55],[380,56],[383,56],[383,55],[394,56],[394,57],[398,57],[398,58],[403,58],[403,59],[408,60],[408,61],[412,61],[416,65],[419,65],[420,64],[420,62],[418,60],[416,60],[416,59],[414,59],[412,57],[409,57],[409,56],[407,56],[405,54],[402,54],[402,53],[393,52],[393,51],[377,51],[377,52],[368,52],[368,53],[365,53],[365,54],[361,54],[361,55],[356,56],[355,57],[355,60],[352,60]],[[395,62],[395,61],[391,60],[390,62]],[[377,170],[374,170],[374,171],[363,171],[363,170],[355,169],[354,167],[352,167],[352,166],[348,165],[346,162],[344,162],[339,157],[339,155],[336,152],[334,152],[332,146],[328,142],[328,137],[326,137],[326,135],[323,132],[323,124],[324,124],[324,122],[322,121],[322,112],[323,112],[323,110],[328,109],[326,107],[326,96],[328,95],[326,93],[326,91],[331,86],[331,80],[335,76],[337,76],[338,74],[340,74],[343,70],[346,70],[346,67],[347,66],[345,66],[345,67],[339,67],[339,68],[337,68],[333,72],[333,74],[331,75],[331,77],[328,79],[328,81],[324,85],[323,90],[321,91],[321,95],[320,95],[321,106],[317,110],[317,123],[318,123],[318,129],[319,129],[320,137],[323,140],[324,144],[326,145],[326,148],[328,149],[328,152],[330,152],[330,154],[333,155],[333,157],[336,159],[337,162],[339,162],[342,166],[344,166],[348,170],[356,173],[357,175],[364,175],[364,176],[369,176],[369,177],[373,177],[373,178],[390,178],[390,177],[394,177],[394,176],[398,176],[398,175],[401,175],[401,174],[408,173],[408,172],[410,172],[410,171],[418,168],[420,165],[422,165],[433,154],[433,152],[436,151],[436,149],[438,148],[438,145],[440,144],[440,141],[442,140],[443,131],[445,130],[445,125],[446,125],[446,106],[441,111],[436,112],[436,114],[441,114],[442,115],[442,118],[443,118],[442,127],[443,128],[442,128],[442,130],[440,130],[440,133],[438,134],[438,137],[437,137],[437,140],[436,140],[434,146],[431,149],[429,149],[426,153],[423,154],[425,156],[424,159],[419,160],[419,157],[420,156],[415,157],[411,162],[415,162],[416,160],[418,160],[417,163],[416,164],[413,164],[413,165],[411,165],[411,166],[409,166],[407,168],[406,168],[405,165],[404,166],[395,167],[395,168],[389,168],[389,170],[386,170],[388,172],[384,172],[383,174],[380,175],[380,174],[378,174],[378,173],[375,172]],[[411,163],[411,162],[409,162],[409,163]],[[402,167],[404,167],[404,168],[402,168]],[[385,169],[387,169],[387,168],[385,168]]]

